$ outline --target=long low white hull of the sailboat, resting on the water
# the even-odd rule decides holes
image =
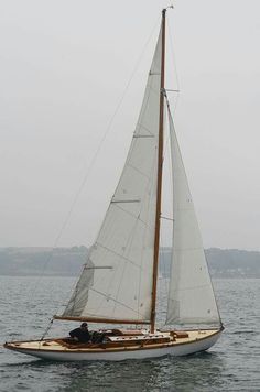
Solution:
[[[194,334],[194,333],[193,333]],[[127,359],[145,359],[159,358],[164,356],[187,356],[209,349],[218,340],[221,330],[212,330],[206,336],[195,337],[189,339],[180,339],[180,341],[154,345],[156,347],[122,347],[121,349],[104,349],[104,350],[71,350],[63,348],[62,350],[53,349],[52,346],[42,346],[43,342],[34,341],[35,347],[31,348],[31,342],[12,342],[6,344],[6,348],[22,352],[29,356],[37,357],[45,360],[54,361],[121,361]],[[182,340],[182,341],[181,341]]]

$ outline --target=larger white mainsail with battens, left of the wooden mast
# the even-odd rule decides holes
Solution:
[[[64,317],[150,320],[161,53],[160,32],[127,162]]]

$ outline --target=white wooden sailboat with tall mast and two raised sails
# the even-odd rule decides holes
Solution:
[[[53,319],[100,325],[101,342],[66,338],[6,342],[47,360],[186,356],[209,349],[224,327],[164,86],[166,9],[130,150],[71,300]],[[156,328],[165,119],[173,182],[172,262],[166,319]],[[106,326],[115,326],[107,328]],[[124,327],[122,327],[124,326]],[[127,327],[126,327],[127,326]]]

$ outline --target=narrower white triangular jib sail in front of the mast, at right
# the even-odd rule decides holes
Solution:
[[[201,232],[169,110],[173,172],[173,252],[166,324],[219,325]]]

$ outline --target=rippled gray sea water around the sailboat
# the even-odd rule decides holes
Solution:
[[[0,276],[0,340],[39,338],[68,277]],[[0,391],[260,391],[260,280],[215,280],[226,330],[207,352],[123,362],[47,362],[0,348]],[[163,301],[163,294],[161,294]],[[55,323],[63,336],[75,324]]]

